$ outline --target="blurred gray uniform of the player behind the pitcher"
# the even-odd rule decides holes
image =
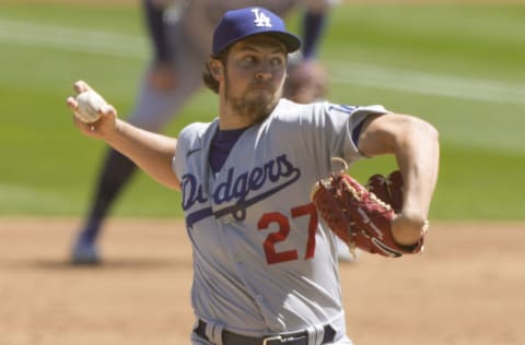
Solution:
[[[213,29],[224,12],[248,5],[265,7],[281,17],[306,3],[331,5],[334,0],[182,0],[175,1],[165,25],[175,51],[173,74],[177,87],[159,91],[147,82],[148,71],[128,121],[140,128],[159,132],[202,86],[202,71],[211,52]],[[171,19],[170,19],[171,17]]]

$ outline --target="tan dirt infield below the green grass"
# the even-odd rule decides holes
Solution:
[[[78,219],[0,218],[0,344],[188,344],[179,222],[114,219],[106,262],[72,267]],[[524,224],[433,224],[423,255],[341,265],[357,345],[525,344]]]

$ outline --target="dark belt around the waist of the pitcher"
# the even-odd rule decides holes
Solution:
[[[334,337],[336,336],[336,331],[329,324],[325,325],[324,330],[325,335],[323,336],[322,344],[329,344],[334,341]],[[205,321],[199,320],[198,325],[194,330],[194,332],[203,337],[205,340],[210,341],[206,335]],[[287,333],[285,335],[252,337],[223,330],[222,343],[223,345],[308,345],[308,332],[302,331],[295,333]]]

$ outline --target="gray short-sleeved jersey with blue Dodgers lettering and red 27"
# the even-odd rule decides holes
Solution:
[[[331,157],[362,157],[353,130],[368,115],[384,112],[382,106],[281,99],[243,132],[215,175],[208,155],[218,120],[180,132],[173,169],[192,245],[198,318],[248,336],[328,323],[337,344],[350,343],[335,237],[311,188],[329,176]]]

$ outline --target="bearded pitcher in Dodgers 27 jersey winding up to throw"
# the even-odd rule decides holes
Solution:
[[[118,119],[107,104],[93,107],[100,118],[85,123],[78,118],[86,107],[68,99],[82,133],[182,191],[194,259],[191,344],[351,344],[336,238],[348,235],[371,253],[421,251],[438,178],[436,130],[383,106],[282,98],[288,53],[300,45],[267,9],[226,12],[205,71],[219,116],[176,139]],[[78,93],[89,90],[75,84]],[[335,157],[383,154],[399,166],[399,207],[334,171]]]

